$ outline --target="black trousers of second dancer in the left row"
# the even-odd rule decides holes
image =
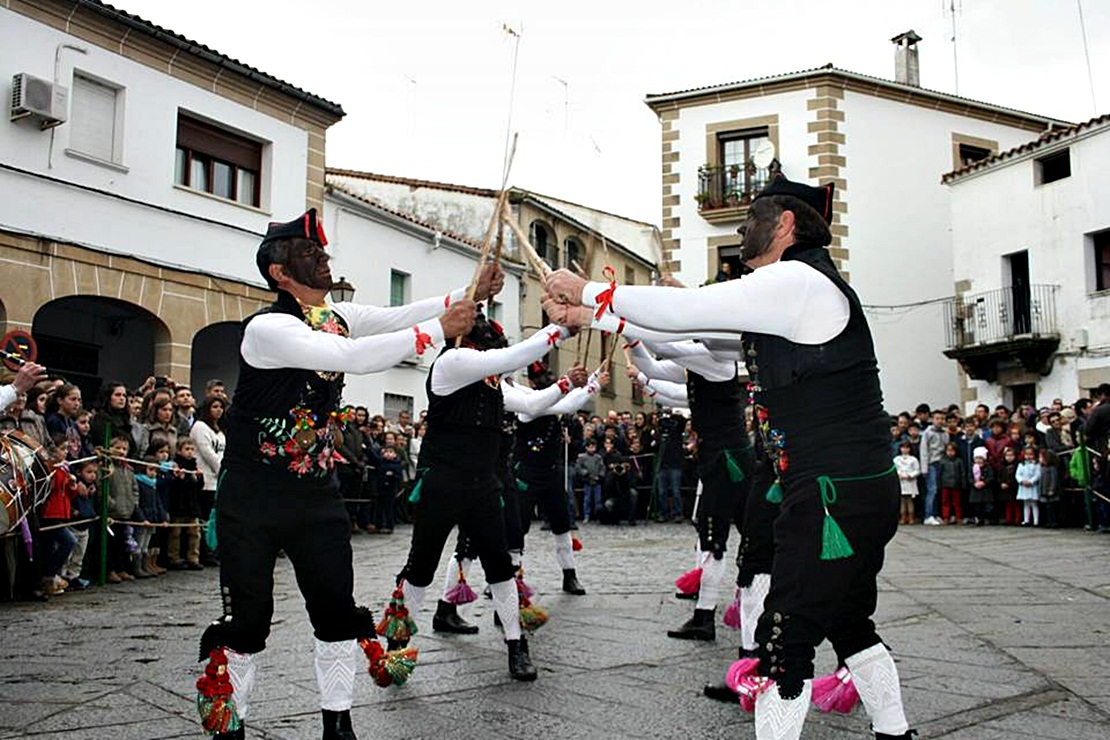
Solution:
[[[515,569],[505,543],[496,476],[433,468],[425,470],[421,480],[420,501],[413,509],[413,540],[401,578],[413,586],[428,586],[447,537],[457,526],[470,539],[470,551],[481,560],[486,580],[500,584],[511,579]]]

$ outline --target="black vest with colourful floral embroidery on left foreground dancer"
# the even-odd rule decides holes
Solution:
[[[242,328],[258,316],[304,314],[296,300],[281,291],[266,308],[243,320]],[[334,314],[346,330],[346,322]],[[228,409],[228,465],[265,465],[295,479],[331,475],[335,448],[335,413],[343,393],[341,373],[281,367],[260,369],[239,356],[239,384]]]

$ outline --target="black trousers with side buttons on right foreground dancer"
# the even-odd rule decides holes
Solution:
[[[861,474],[872,474],[865,470]],[[785,699],[801,692],[813,678],[815,648],[825,639],[837,658],[846,658],[881,640],[875,631],[885,548],[898,529],[898,477],[836,481],[837,501],[829,513],[840,525],[855,555],[821,560],[825,508],[818,483],[803,478],[786,484],[775,519],[775,562],[770,592],[756,628],[759,673],[775,679]]]

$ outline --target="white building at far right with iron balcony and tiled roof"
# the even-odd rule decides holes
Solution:
[[[948,354],[976,403],[1070,404],[1110,383],[1108,172],[1103,115],[945,175],[961,287]]]

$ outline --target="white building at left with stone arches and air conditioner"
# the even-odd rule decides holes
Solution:
[[[272,300],[260,237],[322,207],[342,109],[94,0],[0,8],[0,328],[87,404],[105,379],[233,385]]]

